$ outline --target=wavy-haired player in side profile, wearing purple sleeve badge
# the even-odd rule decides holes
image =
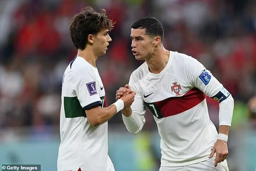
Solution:
[[[82,9],[70,22],[77,56],[63,75],[58,171],[114,171],[108,156],[108,120],[134,101],[135,92],[106,107],[96,60],[106,54],[113,22],[106,11]]]

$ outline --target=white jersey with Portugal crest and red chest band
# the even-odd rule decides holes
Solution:
[[[137,93],[133,113],[143,124],[146,106],[154,115],[161,137],[161,166],[208,159],[218,133],[209,118],[206,95],[226,91],[210,71],[193,57],[170,51],[164,70],[151,73],[144,62],[132,73],[129,86]]]

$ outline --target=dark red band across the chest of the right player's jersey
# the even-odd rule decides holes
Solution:
[[[171,97],[155,104],[161,109],[163,117],[173,116],[185,112],[198,105],[206,98],[198,88],[192,88],[181,97]]]

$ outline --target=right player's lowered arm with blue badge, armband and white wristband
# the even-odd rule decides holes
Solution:
[[[223,85],[200,62],[193,59],[188,65],[188,77],[194,87],[207,96],[219,102],[219,134],[209,158],[216,153],[214,166],[224,161],[228,156],[228,134],[231,126],[234,99]]]

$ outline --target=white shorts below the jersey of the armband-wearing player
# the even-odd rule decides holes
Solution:
[[[218,163],[217,167],[214,167],[214,158],[208,159],[203,162],[199,162],[193,165],[181,166],[181,167],[164,167],[161,166],[159,171],[229,171],[228,163],[226,160]]]

